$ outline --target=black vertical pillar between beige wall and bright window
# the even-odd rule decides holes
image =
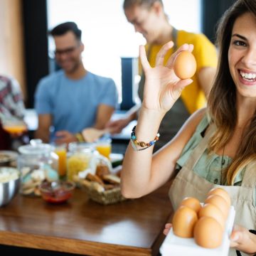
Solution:
[[[21,0],[26,65],[26,106],[33,108],[38,81],[48,75],[47,0]]]

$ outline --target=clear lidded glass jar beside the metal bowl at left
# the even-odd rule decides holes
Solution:
[[[40,196],[38,186],[43,181],[58,180],[58,156],[53,146],[31,139],[30,144],[19,146],[17,166],[21,171],[21,193]]]

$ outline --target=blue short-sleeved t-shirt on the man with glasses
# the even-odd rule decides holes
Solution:
[[[117,99],[111,78],[87,72],[80,80],[71,80],[58,70],[39,81],[35,108],[37,114],[52,114],[54,132],[76,133],[95,124],[98,105],[115,108]]]

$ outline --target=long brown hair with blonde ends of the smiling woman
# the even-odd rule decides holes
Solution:
[[[218,70],[209,95],[208,110],[217,130],[210,139],[210,151],[218,151],[225,146],[234,134],[237,124],[236,87],[230,75],[228,65],[228,48],[235,20],[242,14],[250,13],[256,18],[256,1],[238,0],[220,19],[217,30],[217,47],[219,48]],[[243,131],[240,146],[233,162],[226,169],[229,185],[233,185],[235,176],[247,164],[256,160],[256,110]]]

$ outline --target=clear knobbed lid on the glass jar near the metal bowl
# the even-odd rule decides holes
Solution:
[[[50,154],[53,151],[53,146],[43,143],[41,139],[31,139],[30,144],[19,146],[18,151],[21,154],[29,155]]]

